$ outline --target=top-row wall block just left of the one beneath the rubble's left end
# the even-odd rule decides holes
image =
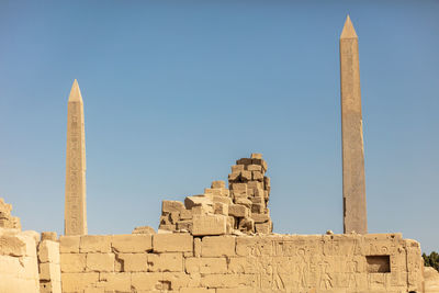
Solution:
[[[117,252],[146,252],[153,250],[151,234],[113,235],[112,248]]]

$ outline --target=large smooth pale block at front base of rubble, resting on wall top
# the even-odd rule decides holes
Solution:
[[[224,215],[194,215],[192,235],[223,235],[227,232],[227,216]]]

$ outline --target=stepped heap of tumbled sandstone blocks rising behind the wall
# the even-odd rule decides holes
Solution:
[[[228,188],[224,181],[214,181],[204,194],[187,196],[184,204],[164,201],[159,229],[194,236],[270,234],[270,179],[266,172],[267,162],[260,154],[237,160]]]

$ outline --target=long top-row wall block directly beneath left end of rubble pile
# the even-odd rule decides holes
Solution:
[[[193,251],[190,234],[156,234],[153,237],[155,252],[185,252]]]

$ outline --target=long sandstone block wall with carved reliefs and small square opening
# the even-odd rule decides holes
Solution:
[[[401,234],[61,236],[63,292],[421,292]]]

